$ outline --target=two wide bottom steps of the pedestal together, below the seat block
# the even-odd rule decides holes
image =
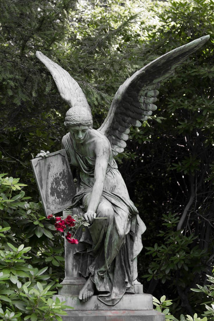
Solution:
[[[108,306],[93,295],[87,302],[81,302],[75,295],[57,295],[65,301],[67,316],[63,321],[164,321],[165,315],[154,311],[152,295],[150,294],[124,294],[115,305]]]

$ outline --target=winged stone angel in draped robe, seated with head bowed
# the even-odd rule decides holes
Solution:
[[[114,155],[124,151],[131,126],[141,126],[157,107],[159,82],[200,48],[209,36],[196,39],[160,56],[136,71],[119,87],[99,129],[93,129],[90,106],[78,83],[59,65],[37,51],[36,56],[52,74],[68,109],[62,139],[70,163],[77,169],[77,193],[73,213],[90,223],[75,253],[79,273],[87,282],[79,299],[87,301],[94,291],[107,305],[115,305],[124,293],[134,293],[141,234],[146,230],[129,198]],[[39,156],[46,156],[40,152]],[[95,217],[107,219],[94,220]]]

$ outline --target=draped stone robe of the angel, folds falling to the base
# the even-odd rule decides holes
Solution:
[[[72,145],[70,133],[62,139],[62,148],[78,164],[80,185],[73,198],[73,209],[82,215],[87,211],[94,185],[95,157],[81,155]],[[79,273],[90,277],[98,299],[115,305],[125,292],[134,293],[137,278],[137,256],[141,252],[141,234],[146,230],[138,210],[130,200],[124,180],[112,158],[108,161],[101,200],[113,207],[114,215],[95,220],[82,232],[74,254]],[[99,208],[99,206],[98,206]],[[97,217],[103,217],[97,209]]]

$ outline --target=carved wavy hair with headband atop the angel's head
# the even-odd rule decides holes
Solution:
[[[93,126],[93,120],[90,112],[84,107],[70,108],[65,117],[64,125],[70,126]]]

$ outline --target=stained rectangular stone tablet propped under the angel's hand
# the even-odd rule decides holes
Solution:
[[[71,206],[76,188],[65,150],[30,162],[45,214],[56,214]]]

